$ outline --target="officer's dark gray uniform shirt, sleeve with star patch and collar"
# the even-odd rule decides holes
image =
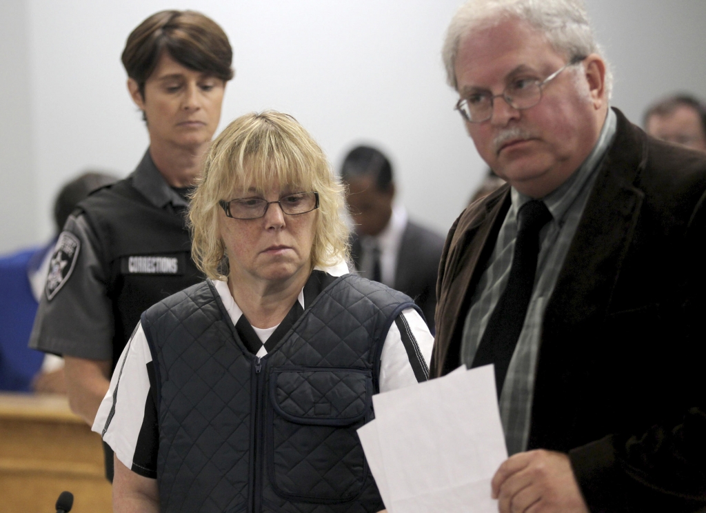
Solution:
[[[169,187],[150,151],[128,181],[155,207],[181,215],[188,203]],[[49,277],[30,336],[30,347],[90,360],[112,360],[114,305],[107,265],[84,214],[70,216],[54,248]]]

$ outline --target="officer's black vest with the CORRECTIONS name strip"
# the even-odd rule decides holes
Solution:
[[[140,315],[157,301],[202,282],[203,274],[191,261],[183,217],[152,205],[129,178],[90,195],[78,210],[97,236],[98,257],[108,277],[115,365]],[[160,268],[155,258],[168,265]]]

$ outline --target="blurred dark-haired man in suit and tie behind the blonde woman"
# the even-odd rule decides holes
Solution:
[[[347,202],[355,224],[351,253],[356,270],[413,298],[433,333],[443,237],[409,221],[405,207],[393,205],[393,169],[376,148],[351,150],[341,177],[348,186]]]

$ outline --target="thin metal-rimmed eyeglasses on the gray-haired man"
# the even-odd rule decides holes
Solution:
[[[491,95],[490,92],[474,92],[469,97],[458,100],[455,109],[469,123],[482,123],[491,119],[493,117],[493,102],[500,97],[513,109],[530,109],[542,100],[542,89],[545,85],[554,80],[566,68],[578,64],[584,59],[585,57],[582,56],[574,57],[544,80],[528,78],[513,80],[499,95]]]

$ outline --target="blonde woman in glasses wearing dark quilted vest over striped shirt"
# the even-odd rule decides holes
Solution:
[[[287,114],[233,121],[191,201],[208,276],[143,313],[93,430],[115,512],[377,512],[356,429],[426,380],[412,299],[347,270],[343,195]]]

